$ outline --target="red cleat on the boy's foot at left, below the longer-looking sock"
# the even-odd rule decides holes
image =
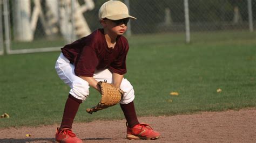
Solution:
[[[82,140],[76,137],[76,134],[73,133],[70,128],[62,128],[61,130],[59,130],[59,127],[57,127],[57,130],[56,130],[55,140],[58,142],[70,142],[70,143],[83,142]]]

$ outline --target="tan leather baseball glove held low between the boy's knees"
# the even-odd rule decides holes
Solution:
[[[121,101],[124,95],[123,90],[121,90],[118,87],[115,87],[111,83],[106,83],[106,81],[105,82],[100,81],[98,82],[97,85],[101,89],[102,98],[100,99],[100,102],[96,106],[86,109],[86,112],[90,114],[105,108],[109,108],[110,106],[116,105]]]

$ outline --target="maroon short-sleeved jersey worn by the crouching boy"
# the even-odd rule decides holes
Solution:
[[[129,44],[125,37],[119,35],[114,48],[109,48],[104,30],[98,29],[88,35],[65,45],[63,55],[75,66],[75,74],[92,77],[95,70],[109,69],[113,73],[126,73],[126,55]]]

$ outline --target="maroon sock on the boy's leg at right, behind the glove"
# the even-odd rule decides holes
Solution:
[[[129,104],[120,104],[120,106],[124,112],[125,119],[130,128],[139,124],[133,102],[131,102]]]

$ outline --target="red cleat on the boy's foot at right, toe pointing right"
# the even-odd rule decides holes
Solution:
[[[149,124],[140,123],[135,125],[133,128],[130,128],[127,123],[127,135],[126,138],[133,139],[146,139],[146,140],[155,140],[160,137],[160,133],[153,131],[153,128]]]

